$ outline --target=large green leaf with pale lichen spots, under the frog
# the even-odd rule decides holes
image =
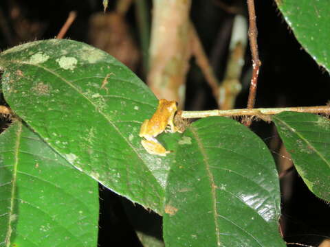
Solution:
[[[157,99],[134,73],[72,40],[14,47],[0,54],[0,67],[10,107],[69,163],[162,212],[171,156],[147,154],[140,144],[140,125]]]

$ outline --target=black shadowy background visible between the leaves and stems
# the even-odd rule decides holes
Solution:
[[[101,2],[101,0],[2,0],[0,49],[8,49],[32,40],[54,38],[72,10],[78,12],[78,17],[65,37],[88,43],[89,16],[102,11]],[[193,0],[191,19],[214,66],[214,71],[221,80],[228,56],[227,46],[234,14],[228,13],[223,8],[223,4],[218,4],[219,2],[247,16],[245,1],[242,0]],[[151,1],[147,3],[151,10]],[[109,1],[110,11],[113,10],[113,5],[114,1]],[[329,74],[325,69],[318,67],[297,42],[274,1],[256,0],[256,16],[259,29],[259,56],[262,61],[256,107],[327,104],[330,92]],[[126,14],[126,22],[139,47],[134,6]],[[236,108],[246,107],[251,65],[248,48],[241,77],[243,91],[237,98]],[[145,75],[142,71],[143,68],[140,66],[135,72],[144,80]],[[216,108],[210,92],[201,71],[192,59],[188,73],[186,109]],[[2,97],[0,100],[1,104],[4,104]],[[277,134],[272,124],[259,121],[252,125],[252,130],[270,145],[274,158],[281,163],[281,157],[277,155],[280,143],[274,145]],[[329,237],[329,204],[309,192],[294,169],[290,169],[281,178],[281,189],[283,196],[281,228],[285,241],[317,246],[322,239]],[[102,187],[100,187],[100,205],[100,246],[141,246],[134,229],[161,237],[160,217],[137,205],[133,206],[131,202]]]

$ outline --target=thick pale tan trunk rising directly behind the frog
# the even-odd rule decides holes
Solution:
[[[158,99],[184,107],[191,57],[191,0],[153,0],[147,84]]]

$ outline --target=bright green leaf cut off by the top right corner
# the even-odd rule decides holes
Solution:
[[[277,0],[277,5],[299,43],[330,72],[330,1]]]

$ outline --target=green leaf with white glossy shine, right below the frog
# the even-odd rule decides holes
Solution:
[[[184,132],[168,174],[170,246],[285,246],[280,190],[265,143],[241,124],[208,117]]]

